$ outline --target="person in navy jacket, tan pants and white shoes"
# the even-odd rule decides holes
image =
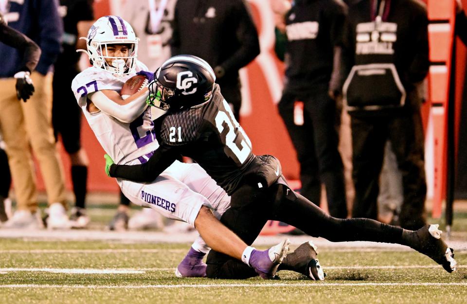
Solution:
[[[8,25],[30,37],[42,50],[31,79],[35,94],[27,103],[18,100],[16,78],[24,77],[18,52],[0,44],[0,128],[6,143],[18,209],[4,228],[41,228],[37,212],[36,174],[30,148],[40,165],[49,202],[50,228],[67,228],[66,192],[62,164],[52,129],[53,64],[60,53],[61,20],[54,0],[1,1]],[[21,75],[18,72],[23,72]],[[15,76],[16,75],[16,76]],[[15,78],[16,77],[16,78]],[[27,80],[26,80],[27,81]],[[23,98],[25,100],[25,98]]]

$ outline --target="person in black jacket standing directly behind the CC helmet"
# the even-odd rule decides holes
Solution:
[[[177,1],[171,39],[172,55],[203,58],[216,73],[222,95],[239,119],[238,70],[260,52],[258,33],[244,0]]]

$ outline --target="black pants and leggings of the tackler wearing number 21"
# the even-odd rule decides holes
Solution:
[[[402,242],[402,228],[367,218],[340,219],[327,215],[293,192],[282,179],[268,189],[241,186],[231,196],[231,208],[220,221],[251,245],[268,219],[285,222],[308,235],[332,242]],[[214,250],[209,252],[206,263],[210,278],[245,279],[257,275],[243,262]]]

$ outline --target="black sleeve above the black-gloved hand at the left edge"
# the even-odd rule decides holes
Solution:
[[[23,54],[23,61],[19,71],[32,72],[36,68],[40,57],[39,46],[24,34],[0,22],[0,40]]]

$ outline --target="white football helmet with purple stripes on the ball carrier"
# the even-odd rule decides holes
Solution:
[[[119,16],[105,16],[97,19],[90,27],[88,36],[81,37],[86,40],[87,51],[78,50],[88,54],[90,63],[99,69],[122,76],[135,71],[138,53],[138,40],[131,25]],[[128,44],[127,57],[104,56],[107,54],[109,44]],[[115,58],[111,65],[106,58]]]

